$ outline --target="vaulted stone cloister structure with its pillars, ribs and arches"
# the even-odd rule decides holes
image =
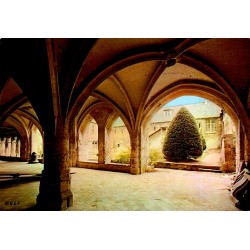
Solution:
[[[72,205],[71,167],[145,173],[149,121],[184,95],[206,98],[230,116],[236,169],[250,164],[249,39],[1,39],[0,58],[0,159],[28,161],[33,151],[42,158],[41,210]],[[111,162],[118,117],[130,138],[125,165]],[[93,162],[85,157],[90,122],[98,129]]]

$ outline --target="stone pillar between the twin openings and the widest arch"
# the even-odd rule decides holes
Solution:
[[[130,135],[130,142],[130,173],[141,174],[141,134],[133,131]]]

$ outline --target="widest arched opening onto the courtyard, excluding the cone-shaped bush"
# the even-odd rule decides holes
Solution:
[[[197,99],[197,98],[200,99]],[[185,106],[196,120],[200,135],[205,139],[206,149],[198,159],[205,166],[213,166],[225,172],[235,172],[240,162],[240,136],[238,134],[238,119],[226,102],[211,94],[181,90],[168,95],[159,101],[149,113],[143,129],[147,133],[148,149],[146,164],[156,161],[166,161],[162,146],[168,126],[178,110]],[[188,101],[185,99],[188,98]],[[193,101],[195,100],[195,101]],[[165,101],[165,102],[164,102]],[[184,102],[183,102],[184,101]],[[194,103],[192,103],[194,102]],[[145,139],[144,139],[145,140]]]

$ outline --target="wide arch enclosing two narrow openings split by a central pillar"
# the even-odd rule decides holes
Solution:
[[[83,105],[75,120],[78,155],[76,166],[128,173],[130,134],[126,117],[108,101],[97,102],[95,98],[90,98],[87,104]],[[115,128],[117,126],[118,129]],[[125,161],[117,159],[119,154],[124,153]]]

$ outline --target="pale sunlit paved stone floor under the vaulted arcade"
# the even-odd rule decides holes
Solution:
[[[0,161],[0,174],[41,173],[42,164]],[[230,199],[231,174],[157,169],[142,175],[72,169],[74,204],[68,211],[239,211]],[[36,203],[39,181],[0,189],[0,210]]]

